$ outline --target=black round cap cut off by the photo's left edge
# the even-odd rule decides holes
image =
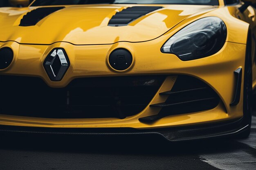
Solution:
[[[13,51],[9,47],[0,49],[0,69],[7,68],[13,60]]]

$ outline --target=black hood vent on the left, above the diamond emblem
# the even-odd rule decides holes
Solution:
[[[65,7],[46,7],[34,9],[23,16],[23,18],[20,20],[20,26],[36,25],[40,20],[42,20],[46,16],[63,8]]]

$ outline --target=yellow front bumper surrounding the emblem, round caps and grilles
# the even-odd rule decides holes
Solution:
[[[237,106],[231,107],[229,104],[234,99],[235,77],[233,72],[244,66],[245,44],[226,42],[222,50],[215,55],[188,62],[181,61],[175,55],[161,53],[162,41],[158,39],[149,42],[120,42],[109,45],[74,46],[66,42],[33,45],[4,42],[0,43],[0,46],[9,46],[14,52],[12,64],[7,69],[0,71],[2,75],[40,77],[53,88],[65,87],[73,79],[80,77],[174,75],[169,77],[168,83],[162,85],[150,104],[163,102],[164,99],[158,94],[170,90],[175,82],[175,79],[173,80],[175,75],[191,75],[211,86],[223,103],[211,110],[171,115],[150,123],[139,121],[141,117],[155,114],[149,104],[141,113],[126,119],[47,119],[0,115],[0,125],[45,128],[157,129],[207,124],[243,117],[242,100]],[[43,68],[45,57],[54,48],[65,49],[71,64],[60,82],[52,82]],[[117,48],[128,49],[134,57],[132,67],[128,71],[118,72],[108,66],[108,55]],[[243,98],[243,92],[241,98]]]

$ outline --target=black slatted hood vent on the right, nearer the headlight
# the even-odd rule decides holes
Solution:
[[[108,26],[126,26],[130,22],[163,7],[129,7],[112,16]]]

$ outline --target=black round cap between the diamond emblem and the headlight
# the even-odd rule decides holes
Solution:
[[[109,56],[109,64],[118,71],[124,71],[132,65],[132,54],[126,49],[116,49]]]

